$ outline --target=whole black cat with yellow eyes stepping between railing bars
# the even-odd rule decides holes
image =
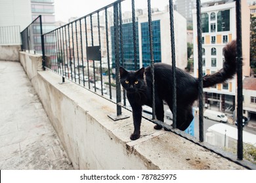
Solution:
[[[223,69],[213,75],[203,76],[203,88],[214,86],[232,78],[236,74],[236,41],[223,48],[225,61]],[[120,81],[127,91],[127,98],[133,109],[134,132],[131,140],[139,139],[142,105],[152,107],[151,67],[142,67],[139,71],[119,69]],[[165,63],[154,63],[156,118],[163,122],[163,101],[173,110],[172,67]],[[198,99],[198,78],[176,68],[177,77],[177,128],[184,131],[192,122],[192,105]],[[161,129],[155,125],[154,129]]]

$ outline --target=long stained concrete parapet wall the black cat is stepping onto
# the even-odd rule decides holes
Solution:
[[[132,118],[114,122],[107,116],[116,112],[114,103],[73,82],[61,84],[61,76],[41,71],[38,56],[20,52],[20,62],[75,169],[244,169],[179,135],[154,130],[147,120],[140,139],[131,141]]]

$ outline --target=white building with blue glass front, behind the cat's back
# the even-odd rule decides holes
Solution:
[[[123,66],[128,70],[135,70],[135,52],[133,47],[133,23],[131,17],[123,17]],[[179,20],[179,22],[178,22]],[[175,57],[176,66],[184,69],[187,65],[186,50],[186,19],[178,12],[174,12],[175,27]],[[148,32],[148,15],[140,14],[135,22],[137,69],[147,67],[151,62],[150,37]],[[112,39],[112,67],[115,68],[114,27],[111,27]],[[171,64],[171,32],[169,12],[154,11],[152,13],[152,45],[154,62]],[[122,64],[122,63],[121,63]]]

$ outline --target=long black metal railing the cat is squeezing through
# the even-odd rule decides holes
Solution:
[[[129,40],[133,44],[133,49],[129,52],[133,54],[132,60],[125,60],[125,42],[123,41],[123,14],[122,3],[131,5],[131,31],[133,39]],[[175,33],[173,27],[173,1],[167,1],[169,4],[169,24],[170,24],[170,44],[172,67],[175,71]],[[127,4],[125,5],[127,7]],[[156,120],[156,109],[154,103],[154,93],[152,95],[152,119],[148,119],[154,124],[161,125],[169,131],[188,139],[208,150],[211,150],[224,158],[230,159],[247,169],[255,169],[255,165],[243,159],[243,141],[242,141],[242,44],[241,44],[241,4],[236,1],[236,24],[237,24],[237,50],[238,50],[238,152],[237,157],[228,154],[223,150],[217,149],[203,142],[203,84],[202,84],[202,26],[201,26],[201,1],[196,1],[196,16],[198,29],[198,76],[199,76],[199,141],[190,135],[176,129],[177,123],[177,94],[176,94],[176,73],[173,72],[173,126],[167,125]],[[154,51],[152,44],[152,12],[151,1],[147,1],[148,32],[150,37],[150,65],[152,66],[152,78],[154,88]],[[35,22],[35,21],[34,21]],[[34,23],[33,22],[33,23]],[[32,23],[32,24],[33,24]],[[33,48],[31,40],[32,24],[22,32],[22,48],[30,50]],[[138,69],[138,49],[137,42],[137,19],[135,13],[135,0],[118,0],[114,3],[100,8],[91,14],[83,16],[69,24],[58,27],[49,33],[41,35],[43,66],[59,75],[62,75],[62,82],[65,78],[72,80],[76,84],[87,88],[90,91],[104,96],[106,99],[116,103],[116,114],[110,114],[113,120],[120,120],[129,116],[123,116],[122,107],[127,107],[125,91],[121,90],[119,80],[119,67],[125,64],[125,61],[134,63],[134,69]],[[167,38],[166,38],[167,39]],[[26,42],[27,41],[27,42]],[[35,50],[35,48],[34,48]],[[111,63],[112,61],[112,63]],[[112,66],[112,67],[111,67]],[[115,80],[115,86],[112,83]],[[107,83],[105,85],[104,83]],[[116,91],[116,95],[114,92]],[[123,92],[123,95],[121,95]],[[108,93],[108,94],[106,94]],[[114,95],[114,97],[113,97]],[[123,99],[123,101],[122,101]],[[146,117],[144,117],[146,118]]]

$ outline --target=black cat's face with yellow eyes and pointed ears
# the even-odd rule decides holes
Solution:
[[[119,72],[121,85],[127,92],[137,93],[144,88],[144,67],[139,71],[126,71],[120,67]]]

